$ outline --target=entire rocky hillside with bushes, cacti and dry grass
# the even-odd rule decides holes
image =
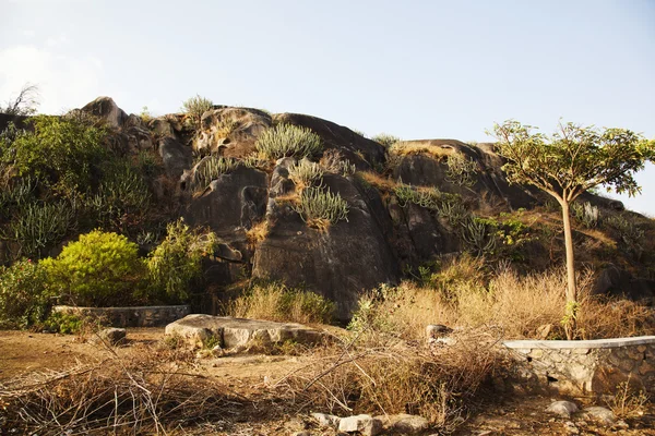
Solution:
[[[2,323],[44,323],[56,302],[190,302],[407,339],[433,323],[563,337],[559,205],[509,184],[492,144],[369,140],[201,97],[184,110],[102,97],[0,116]],[[574,336],[652,331],[655,223],[593,194],[571,210]]]

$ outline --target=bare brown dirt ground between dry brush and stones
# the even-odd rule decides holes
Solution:
[[[163,328],[128,330],[129,342],[118,353],[139,352],[140,347],[154,344],[163,337]],[[46,370],[61,370],[76,362],[97,359],[106,352],[100,346],[81,337],[26,331],[0,330],[0,385],[15,376]],[[195,370],[248,398],[247,405],[236,408],[225,421],[206,425],[199,433],[206,435],[291,435],[308,431],[311,435],[335,435],[317,428],[307,415],[298,413],[287,401],[275,398],[267,389],[271,380],[279,379],[299,367],[308,358],[289,355],[245,354],[199,359]],[[643,415],[623,420],[607,427],[580,416],[562,419],[549,415],[545,409],[561,397],[495,398],[475,408],[454,433],[457,436],[502,435],[653,435],[655,408],[651,404]],[[569,399],[579,405],[587,399]],[[597,404],[605,405],[605,404]],[[0,434],[3,434],[0,428]],[[431,433],[427,433],[431,434]]]

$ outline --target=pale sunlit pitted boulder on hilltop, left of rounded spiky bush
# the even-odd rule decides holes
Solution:
[[[203,113],[193,149],[246,157],[254,152],[257,137],[271,126],[271,116],[259,109],[219,108]]]

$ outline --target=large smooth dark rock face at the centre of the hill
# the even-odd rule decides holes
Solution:
[[[291,207],[271,198],[269,217],[275,223],[254,254],[252,276],[306,286],[336,302],[337,316],[347,318],[360,291],[396,282],[400,270],[357,186],[333,174],[326,174],[323,183],[348,202],[348,221],[322,233],[309,228]]]

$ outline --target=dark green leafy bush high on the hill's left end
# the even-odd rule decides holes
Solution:
[[[87,191],[105,160],[107,130],[72,117],[38,116],[28,122],[33,130],[0,140],[0,160],[60,195]]]

